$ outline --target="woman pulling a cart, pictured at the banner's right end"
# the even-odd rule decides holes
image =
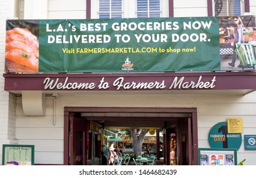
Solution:
[[[241,20],[240,17],[235,17],[234,18],[234,23],[236,24],[236,29],[234,30],[235,32],[235,37],[234,37],[234,44],[233,44],[233,58],[232,58],[232,62],[229,63],[229,65],[231,67],[235,67],[235,63],[236,63],[236,58],[237,58],[237,54],[235,52],[236,50],[236,44],[241,44],[241,43],[245,43],[245,39],[244,39],[244,35],[243,35],[243,22]],[[237,65],[237,67],[243,67],[241,62],[239,65]]]

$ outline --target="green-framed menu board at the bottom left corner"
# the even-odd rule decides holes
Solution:
[[[34,145],[3,144],[3,165],[34,165]]]

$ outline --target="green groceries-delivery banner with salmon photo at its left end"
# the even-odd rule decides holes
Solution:
[[[219,17],[6,20],[6,72],[221,71]]]

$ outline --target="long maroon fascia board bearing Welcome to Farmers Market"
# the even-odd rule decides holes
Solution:
[[[256,72],[3,74],[4,90],[255,90]]]

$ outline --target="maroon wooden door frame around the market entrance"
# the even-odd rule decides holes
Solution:
[[[64,165],[69,165],[69,120],[73,113],[189,113],[192,115],[193,163],[197,165],[197,108],[181,107],[64,107]]]

